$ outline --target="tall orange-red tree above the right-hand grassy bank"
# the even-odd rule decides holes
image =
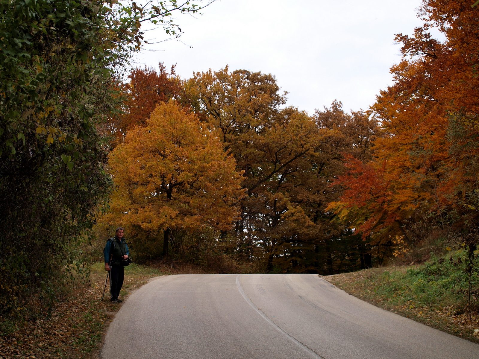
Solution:
[[[350,176],[340,179],[348,189],[336,208],[353,215],[363,235],[413,242],[421,239],[412,233],[417,223],[443,235],[477,233],[479,10],[471,5],[424,0],[425,24],[412,37],[396,37],[402,60],[391,68],[394,84],[373,106],[384,136],[371,162],[351,161]],[[434,39],[431,28],[445,41]]]

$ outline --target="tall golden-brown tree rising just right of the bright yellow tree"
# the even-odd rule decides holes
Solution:
[[[238,250],[253,258],[257,244],[261,244],[269,253],[271,269],[281,238],[268,228],[281,222],[288,201],[280,198],[279,192],[276,198],[270,196],[268,189],[276,181],[282,183],[294,168],[293,163],[311,150],[314,122],[294,109],[280,113],[285,97],[278,93],[271,75],[246,70],[229,72],[226,67],[197,73],[185,86],[190,106],[200,119],[221,133],[225,149],[235,157],[238,170],[244,171],[242,187],[248,198],[242,202],[234,230]],[[300,135],[300,123],[308,128],[306,138]],[[301,141],[305,139],[308,145],[302,148]]]

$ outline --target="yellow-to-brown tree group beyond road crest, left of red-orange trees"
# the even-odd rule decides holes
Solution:
[[[104,126],[116,187],[100,227],[124,224],[138,258],[171,248],[178,259],[333,273],[390,254],[327,209],[342,194],[345,157],[372,158],[372,112],[335,101],[309,116],[283,106],[272,75],[228,67],[185,81],[163,64],[137,68],[121,90],[122,112]]]

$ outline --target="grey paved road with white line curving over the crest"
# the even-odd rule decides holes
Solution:
[[[479,345],[376,308],[315,274],[174,275],[129,297],[102,355],[479,359]]]

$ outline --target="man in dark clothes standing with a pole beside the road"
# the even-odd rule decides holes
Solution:
[[[113,303],[123,302],[118,299],[125,276],[122,260],[130,256],[128,246],[125,239],[123,239],[124,233],[123,227],[116,228],[115,236],[106,241],[105,249],[103,250],[105,270],[110,271],[110,301]],[[110,255],[113,255],[113,257],[111,263],[108,264]]]

